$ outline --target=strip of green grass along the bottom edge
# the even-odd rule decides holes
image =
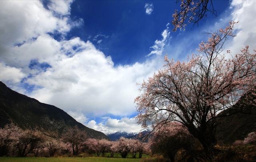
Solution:
[[[140,162],[139,158],[35,158],[35,157],[0,157],[0,162]]]

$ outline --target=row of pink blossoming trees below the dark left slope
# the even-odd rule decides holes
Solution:
[[[136,139],[120,138],[118,141],[88,138],[86,132],[78,127],[70,128],[61,138],[54,134],[44,134],[38,130],[23,130],[14,124],[0,128],[0,156],[46,156],[73,154],[77,156],[83,152],[104,156],[106,152],[110,157],[119,153],[126,158],[128,153],[136,158],[149,153],[148,143]]]

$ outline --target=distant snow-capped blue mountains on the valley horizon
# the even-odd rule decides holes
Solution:
[[[150,132],[149,130],[143,130],[142,132],[140,132],[142,134],[142,137],[146,136],[146,134]],[[141,140],[139,137],[138,137],[138,134],[137,132],[132,132],[132,133],[127,133],[127,132],[124,132],[124,131],[118,131],[118,132],[115,132],[115,133],[111,133],[111,134],[108,134],[108,138],[111,140],[111,141],[116,141],[116,140],[119,140],[119,138],[121,137],[125,137],[125,138],[134,138],[134,139],[139,139]]]

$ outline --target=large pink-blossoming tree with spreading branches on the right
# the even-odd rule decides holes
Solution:
[[[199,44],[198,54],[186,62],[165,56],[164,67],[141,84],[141,94],[135,99],[142,126],[180,122],[205,152],[212,153],[217,114],[241,96],[254,94],[256,87],[256,51],[250,53],[246,46],[232,57],[230,51],[223,51],[226,40],[235,36],[235,24],[211,33],[208,41]]]

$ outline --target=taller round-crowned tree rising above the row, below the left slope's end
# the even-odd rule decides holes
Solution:
[[[63,135],[63,142],[71,145],[73,155],[78,155],[86,138],[86,132],[75,126],[66,131]]]

